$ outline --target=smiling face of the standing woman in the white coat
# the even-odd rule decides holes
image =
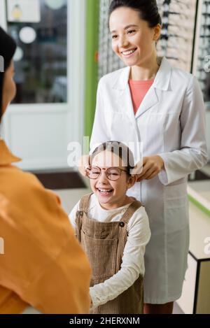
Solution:
[[[126,66],[141,66],[153,55],[157,31],[141,20],[137,10],[117,8],[111,13],[109,28],[113,51]]]

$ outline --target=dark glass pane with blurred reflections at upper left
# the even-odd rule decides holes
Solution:
[[[27,19],[24,6],[34,10]],[[27,16],[27,15],[26,15]],[[67,102],[67,0],[7,0],[15,38],[15,104]],[[30,20],[30,21],[27,21]]]

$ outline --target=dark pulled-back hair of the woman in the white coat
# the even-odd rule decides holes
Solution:
[[[113,0],[109,6],[109,17],[114,10],[120,7],[137,10],[141,20],[146,20],[149,27],[162,24],[156,0]]]

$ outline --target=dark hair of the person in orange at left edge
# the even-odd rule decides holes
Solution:
[[[3,29],[0,27],[0,122],[2,116],[2,98],[3,98],[3,78],[4,73],[10,66],[10,62],[15,54],[16,43]]]

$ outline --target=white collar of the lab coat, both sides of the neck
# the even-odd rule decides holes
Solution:
[[[159,90],[167,91],[169,90],[170,78],[172,73],[172,66],[169,64],[165,57],[162,57],[162,62],[160,64],[160,69],[155,76],[155,81],[153,87]],[[130,76],[130,66],[122,70],[120,77],[114,81],[113,89],[125,90],[128,84]]]

